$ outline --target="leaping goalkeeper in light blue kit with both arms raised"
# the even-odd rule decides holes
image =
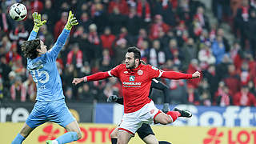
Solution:
[[[65,127],[67,133],[55,140],[46,141],[46,144],[77,141],[82,137],[81,130],[78,122],[66,106],[62,80],[56,66],[56,58],[64,46],[72,26],[78,25],[78,21],[70,11],[62,34],[59,35],[53,48],[47,51],[44,43],[40,39],[36,39],[40,26],[44,25],[46,21],[42,21],[41,15],[36,12],[32,16],[34,18],[34,28],[30,33],[30,38],[22,44],[22,53],[27,58],[27,69],[37,85],[37,98],[29,118],[26,119],[22,130],[14,138],[12,144],[22,143],[34,128],[48,121],[56,122]]]

